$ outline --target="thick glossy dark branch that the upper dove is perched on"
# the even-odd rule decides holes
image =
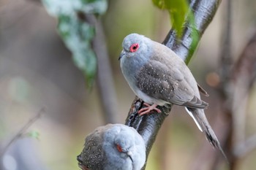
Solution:
[[[163,44],[175,51],[184,61],[186,61],[187,58],[191,58],[200,37],[203,35],[203,32],[206,30],[208,24],[211,23],[212,18],[214,18],[217,8],[219,7],[219,3],[220,0],[190,1],[189,7],[194,12],[195,26],[191,26],[189,23],[185,24],[184,35],[181,37],[181,39],[178,39],[176,32],[171,29]],[[195,31],[198,34],[197,42],[193,42],[192,39],[192,34]],[[192,42],[194,44],[192,44]],[[138,110],[143,107],[142,104],[142,101],[135,98],[135,100],[132,102],[132,107],[129,111],[125,124],[134,127],[139,134],[143,136],[143,139],[146,142],[146,154],[148,157],[148,153],[154,144],[159,128],[164,122],[165,117],[167,117],[167,114],[158,114],[157,112],[154,112],[149,115],[139,116]],[[168,108],[159,107],[159,109],[161,109],[162,112],[168,113],[170,112],[171,106]]]

